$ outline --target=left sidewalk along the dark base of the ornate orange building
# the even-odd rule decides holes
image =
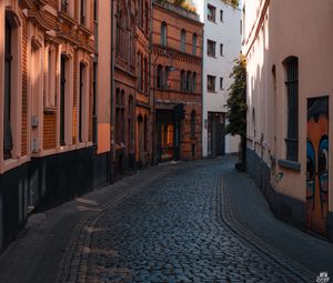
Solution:
[[[170,164],[139,171],[113,185],[44,213],[32,214],[19,239],[0,255],[0,282],[56,282],[63,257],[68,256],[65,252],[73,242],[73,233],[83,219],[93,219],[105,205],[133,195],[175,168]]]

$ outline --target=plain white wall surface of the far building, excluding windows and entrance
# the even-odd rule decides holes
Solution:
[[[241,52],[241,11],[234,9],[223,0],[193,0],[200,20],[204,22],[204,47],[203,47],[203,156],[208,155],[208,112],[226,112],[224,105],[228,99],[228,90],[232,83],[230,73],[234,60]],[[206,18],[208,4],[216,8],[215,22]],[[223,10],[223,22],[220,21],[220,10]],[[208,39],[216,42],[215,58],[206,55]],[[220,55],[220,43],[223,44],[223,57]],[[215,93],[206,91],[206,75],[215,75]],[[223,78],[223,90],[220,90],[220,78]],[[236,152],[239,150],[239,138],[225,138],[225,152]]]

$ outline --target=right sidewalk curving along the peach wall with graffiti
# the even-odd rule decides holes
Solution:
[[[329,272],[333,276],[332,243],[276,220],[248,174],[229,168],[222,173],[222,182],[230,195],[232,214],[241,226],[312,273]]]

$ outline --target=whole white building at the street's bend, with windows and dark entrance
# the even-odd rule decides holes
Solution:
[[[224,0],[193,0],[204,23],[203,156],[239,151],[239,137],[225,134],[225,103],[230,73],[241,52],[241,11]]]

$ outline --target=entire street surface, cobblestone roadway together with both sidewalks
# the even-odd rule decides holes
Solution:
[[[234,161],[224,158],[163,164],[115,184],[110,199],[104,189],[83,196],[85,201],[81,203],[90,205],[87,210],[102,200],[104,204],[80,218],[69,218],[70,212],[62,215],[73,221],[73,225],[68,224],[64,228],[68,231],[63,231],[68,234],[72,229],[70,239],[57,245],[65,247],[62,260],[52,262],[52,254],[47,252],[38,257],[32,251],[22,251],[23,244],[36,239],[31,233],[37,232],[27,231],[1,256],[0,282],[315,282],[320,271],[333,272],[331,243],[283,223],[274,224],[280,222],[270,216],[266,221],[272,223],[266,222],[266,225],[285,235],[285,241],[295,247],[294,256],[289,252],[290,246],[279,245],[279,240],[272,244],[264,239],[264,230],[270,226],[262,230],[261,237],[255,229],[251,231],[244,221],[238,221],[238,213],[243,210],[243,214],[250,215],[251,206],[235,203],[232,192],[236,190],[229,184],[238,179],[249,186],[253,184],[234,171]],[[147,182],[149,176],[151,181]],[[250,205],[251,196],[246,198]],[[78,208],[78,201],[68,205]],[[256,222],[261,222],[260,219]],[[59,221],[57,223],[59,225]],[[44,231],[43,235],[48,241],[53,239],[49,246],[57,243],[57,235]],[[40,237],[30,249],[40,245],[48,251]],[[303,262],[306,256],[299,249],[300,244],[310,246],[304,250],[306,253],[311,252],[309,249],[326,253],[313,253],[312,269]],[[29,256],[31,264],[26,263],[26,266],[20,259],[27,261]],[[50,266],[41,267],[41,262]],[[17,275],[24,272],[31,275]]]

